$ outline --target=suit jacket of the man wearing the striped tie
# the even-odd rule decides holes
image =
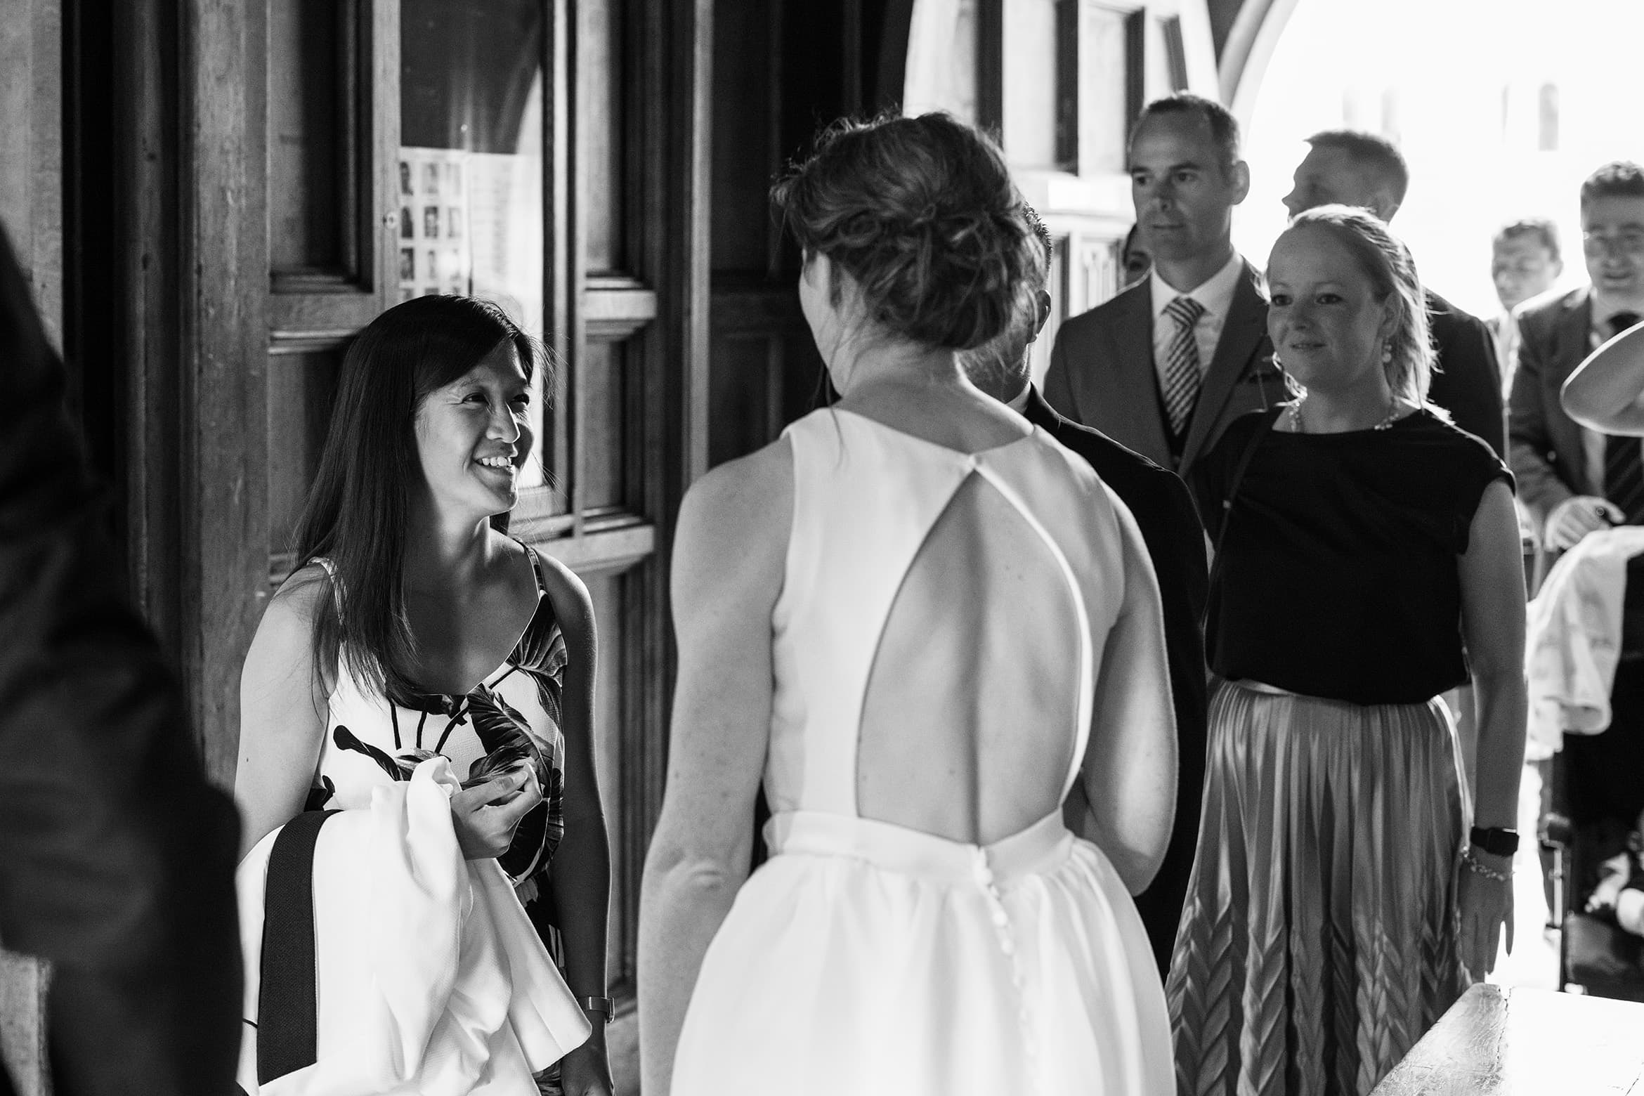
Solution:
[[[1268,301],[1248,261],[1228,306],[1215,357],[1198,386],[1180,460],[1172,460],[1152,366],[1152,291],[1148,279],[1062,324],[1044,398],[1067,417],[1182,477],[1246,411],[1289,399],[1272,363]]]

